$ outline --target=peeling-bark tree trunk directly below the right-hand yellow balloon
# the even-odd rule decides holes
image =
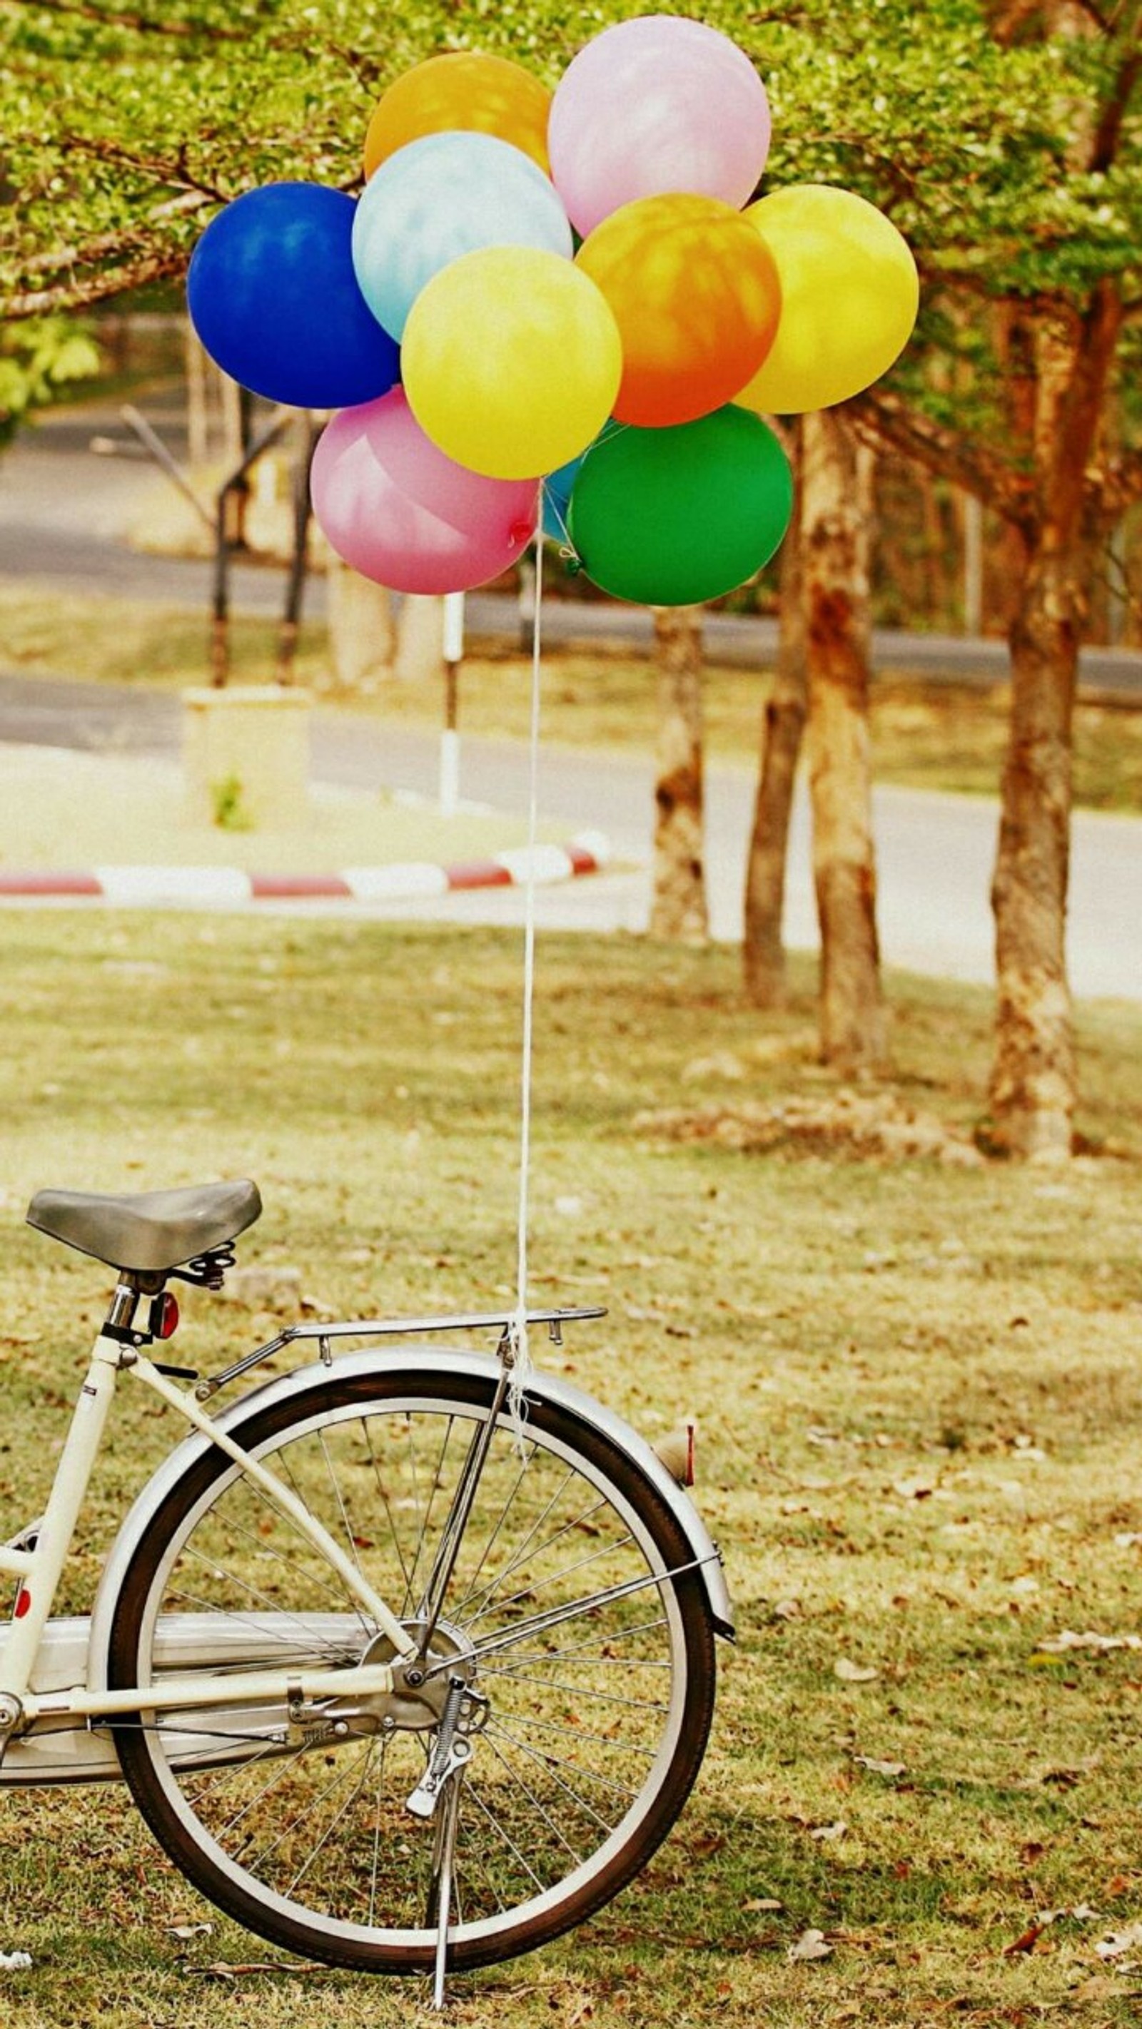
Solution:
[[[805,416],[801,495],[822,1055],[884,1061],[868,755],[870,469],[836,410]]]

